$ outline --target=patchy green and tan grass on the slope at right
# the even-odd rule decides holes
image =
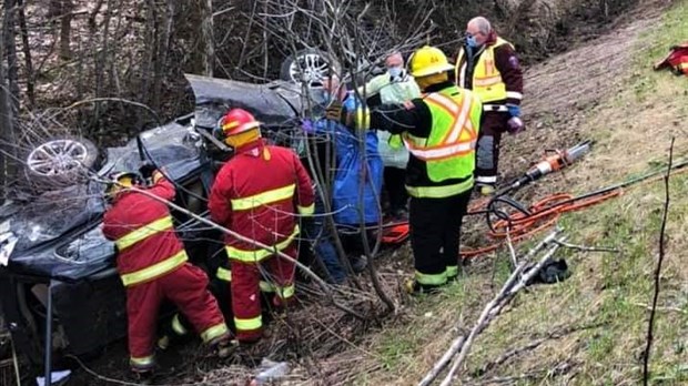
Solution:
[[[597,141],[594,152],[567,173],[566,189],[580,193],[654,170],[666,162],[670,136],[677,136],[675,158],[688,158],[688,79],[652,72],[651,63],[666,48],[686,39],[688,1],[676,2],[661,22],[646,31],[641,50],[627,70],[626,87],[586,112],[578,131]],[[681,135],[682,134],[682,135]],[[578,183],[580,182],[580,183]],[[666,385],[688,384],[688,177],[671,180],[668,253],[661,275],[661,311],[656,324],[651,372]],[[522,293],[474,345],[468,375],[507,349],[518,348],[563,327],[600,327],[549,339],[492,369],[485,378],[517,376],[566,363],[564,375],[542,374],[524,385],[635,385],[640,379],[652,272],[658,255],[664,189],[644,184],[594,209],[566,214],[561,224],[571,242],[613,245],[619,254],[565,252],[574,275],[558,285]],[[525,251],[527,245],[520,245]],[[448,347],[455,326],[469,328],[483,305],[508,275],[506,256],[488,257],[495,270],[473,273],[443,294],[413,301],[411,315],[373,337],[365,360],[380,372],[361,374],[360,384],[414,384]],[[468,382],[474,384],[477,380]]]

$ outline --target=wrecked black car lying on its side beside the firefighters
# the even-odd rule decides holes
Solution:
[[[244,108],[263,122],[266,136],[280,140],[300,124],[304,101],[317,105],[303,98],[302,87],[294,82],[186,79],[195,94],[194,113],[144,131],[124,146],[107,149],[90,179],[0,207],[0,304],[14,346],[31,363],[43,362],[45,336],[53,351],[80,356],[127,335],[115,251],[101,231],[105,203],[99,176],[136,170],[150,160],[176,185],[178,205],[208,216],[205,199],[216,170],[213,153],[231,151],[212,136],[219,116],[227,108]],[[89,164],[97,159],[90,153],[94,149],[77,139],[48,141],[29,155],[28,172],[54,181],[61,174],[71,179],[75,163],[95,166]],[[188,214],[172,214],[194,264],[210,264],[209,256],[222,258],[222,245],[208,242],[220,240],[217,234]],[[50,334],[47,324],[52,325]]]

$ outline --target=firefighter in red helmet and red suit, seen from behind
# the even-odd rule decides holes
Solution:
[[[299,156],[289,149],[267,145],[260,122],[241,109],[230,110],[217,122],[216,134],[234,149],[234,156],[220,170],[210,194],[213,221],[271,247],[270,251],[226,235],[231,263],[232,311],[236,338],[253,343],[261,338],[261,277],[275,292],[281,306],[294,295],[294,264],[280,251],[296,258],[299,215],[312,215],[314,193]]]

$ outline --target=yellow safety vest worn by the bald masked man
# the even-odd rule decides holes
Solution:
[[[497,38],[495,44],[485,47],[485,51],[479,55],[478,62],[475,64],[471,90],[478,95],[483,103],[503,101],[507,98],[506,83],[504,83],[502,73],[497,70],[497,65],[495,65],[495,49],[504,44],[509,44],[514,48],[508,41]],[[461,88],[464,88],[466,84],[466,80],[464,79],[466,73],[459,68],[464,57],[465,50],[461,50],[458,52],[458,58],[456,58],[456,67],[454,69],[454,74]]]

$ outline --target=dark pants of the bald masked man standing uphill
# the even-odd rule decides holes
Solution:
[[[509,114],[506,112],[487,111],[483,114],[475,152],[476,183],[495,184],[497,182],[499,143],[508,120]]]

